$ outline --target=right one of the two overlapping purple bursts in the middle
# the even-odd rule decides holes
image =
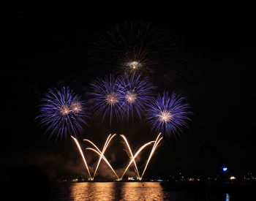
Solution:
[[[146,78],[141,79],[140,75],[136,76],[135,73],[124,77],[121,77],[121,94],[122,94],[122,105],[121,108],[124,111],[124,115],[133,118],[136,113],[141,119],[140,113],[145,110],[146,105],[151,100],[153,86],[148,83]]]

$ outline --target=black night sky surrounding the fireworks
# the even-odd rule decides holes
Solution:
[[[206,10],[197,15],[182,9],[174,11],[175,8],[154,10],[152,7],[132,12],[128,8],[112,7],[87,8],[83,12],[23,9],[15,12],[6,37],[10,62],[1,67],[4,88],[1,168],[4,172],[27,165],[49,177],[86,175],[70,139],[54,142],[43,135],[43,129],[34,120],[37,105],[42,94],[56,86],[69,85],[83,95],[94,79],[86,67],[89,42],[94,35],[125,20],[151,20],[157,26],[166,25],[173,30],[187,60],[184,78],[175,87],[187,95],[194,113],[193,122],[177,140],[170,137],[162,143],[146,175],[179,171],[188,175],[205,171],[211,175],[222,165],[238,175],[253,172],[255,32],[252,18],[223,10]],[[162,87],[173,88],[171,83]],[[102,147],[110,132],[125,134],[133,148],[155,137],[143,122],[115,124],[110,129],[97,118],[92,119],[83,137]],[[106,153],[116,169],[123,168],[127,162],[120,140],[116,137]],[[93,164],[97,158],[89,155]],[[143,156],[140,162],[143,163]],[[104,165],[101,171],[104,172]]]

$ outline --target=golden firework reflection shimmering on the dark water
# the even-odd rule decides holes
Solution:
[[[164,200],[160,183],[84,182],[74,183],[70,198],[80,200]]]

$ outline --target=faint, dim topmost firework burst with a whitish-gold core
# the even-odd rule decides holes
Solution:
[[[176,68],[181,53],[171,31],[152,23],[130,22],[113,26],[91,42],[90,66],[103,72],[154,73]],[[102,69],[102,67],[105,67]]]

